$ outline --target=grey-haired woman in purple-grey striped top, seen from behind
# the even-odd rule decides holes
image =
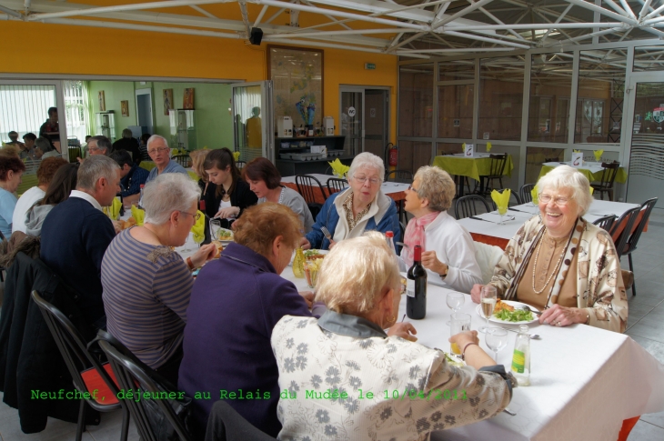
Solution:
[[[117,235],[102,261],[108,332],[173,384],[183,355],[191,271],[216,254],[209,244],[185,261],[173,250],[185,244],[196,223],[199,197],[188,176],[159,175],[144,189],[144,225]]]

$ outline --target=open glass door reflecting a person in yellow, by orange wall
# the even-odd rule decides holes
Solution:
[[[275,162],[272,82],[231,85],[233,89],[233,139],[241,161],[267,157]]]

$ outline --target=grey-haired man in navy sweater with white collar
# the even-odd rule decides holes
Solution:
[[[69,198],[45,218],[40,258],[78,294],[77,305],[90,324],[106,328],[100,275],[116,231],[102,206],[111,205],[120,191],[120,167],[96,155],[80,165],[77,177]]]

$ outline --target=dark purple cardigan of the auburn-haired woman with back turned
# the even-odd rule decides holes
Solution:
[[[277,436],[279,372],[270,337],[282,316],[311,316],[297,288],[267,258],[232,243],[200,271],[186,314],[178,388],[191,397],[210,393],[194,402],[197,428],[205,431],[212,405],[226,391],[226,403]],[[248,393],[260,399],[246,399]]]

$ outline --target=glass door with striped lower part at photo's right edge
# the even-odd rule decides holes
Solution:
[[[630,153],[627,201],[642,204],[659,197],[664,210],[664,82],[632,78],[629,85]]]

